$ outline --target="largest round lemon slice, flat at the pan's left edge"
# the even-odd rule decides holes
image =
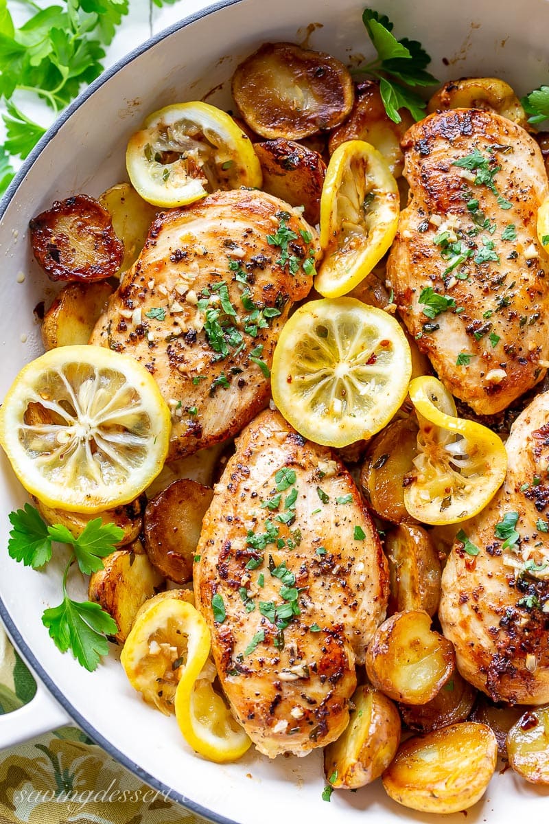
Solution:
[[[161,471],[170,410],[137,361],[62,346],[27,363],[0,410],[0,444],[49,507],[98,513],[137,498]]]

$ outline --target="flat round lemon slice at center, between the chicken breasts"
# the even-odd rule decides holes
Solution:
[[[345,447],[393,417],[412,374],[394,318],[354,297],[311,301],[282,329],[272,360],[272,397],[299,433]]]

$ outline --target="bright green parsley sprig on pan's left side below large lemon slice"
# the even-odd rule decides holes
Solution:
[[[54,643],[66,653],[68,649],[82,667],[92,672],[100,657],[109,651],[106,636],[117,632],[116,622],[99,604],[73,601],[67,595],[67,575],[77,563],[81,573],[89,575],[103,569],[105,555],[114,552],[122,540],[123,530],[114,523],[103,523],[100,517],[86,524],[75,538],[63,524],[48,526],[35,507],[26,503],[23,509],[10,513],[7,551],[11,558],[32,569],[41,569],[52,557],[52,544],[58,541],[72,546],[72,555],[63,574],[63,601],[44,611],[42,622]]]

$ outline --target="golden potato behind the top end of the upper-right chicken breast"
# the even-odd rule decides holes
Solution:
[[[460,80],[449,80],[439,91],[435,91],[427,104],[429,114],[441,109],[494,111],[496,115],[518,123],[523,129],[528,128],[519,98],[509,83],[499,77],[462,77]]]

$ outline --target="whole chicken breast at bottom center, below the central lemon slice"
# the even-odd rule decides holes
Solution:
[[[259,414],[216,485],[197,554],[217,672],[258,750],[305,755],[336,739],[388,597],[377,531],[342,463],[278,412]]]

